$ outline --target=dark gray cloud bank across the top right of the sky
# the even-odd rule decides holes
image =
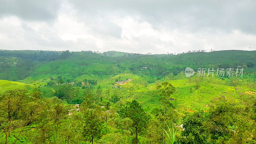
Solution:
[[[239,29],[256,34],[255,0],[212,1],[72,1],[80,12],[119,12],[122,15],[140,15],[151,24],[169,28],[197,31],[221,29],[230,32]]]

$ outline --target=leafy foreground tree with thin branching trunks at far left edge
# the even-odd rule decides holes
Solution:
[[[20,128],[15,137],[16,143],[23,129],[42,111],[37,101],[38,96],[32,93],[28,97],[27,92],[23,89],[14,89],[0,95],[0,127],[5,133],[5,143],[7,137],[11,137],[11,133]]]

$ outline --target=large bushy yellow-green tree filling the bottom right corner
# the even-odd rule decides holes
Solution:
[[[207,130],[213,143],[220,139],[223,143],[247,143],[252,138],[251,135],[254,135],[255,98],[240,99],[241,103],[232,103],[219,98],[210,106]]]

